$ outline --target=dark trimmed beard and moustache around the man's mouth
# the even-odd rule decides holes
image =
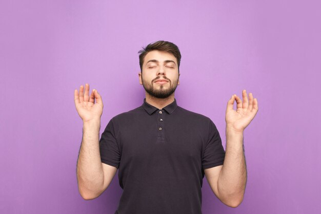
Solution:
[[[160,99],[164,99],[164,98],[167,98],[167,97],[171,96],[175,92],[175,90],[177,88],[178,78],[173,83],[172,83],[172,81],[170,79],[166,78],[165,76],[163,76],[163,78],[166,79],[168,81],[168,83],[169,83],[169,88],[168,89],[164,89],[164,85],[162,85],[162,84],[159,86],[159,89],[156,89],[154,87],[153,84],[157,84],[157,83],[155,83],[155,81],[157,79],[159,79],[159,77],[153,79],[152,82],[149,83],[149,82],[145,82],[144,79],[143,79],[143,76],[142,76],[143,87],[144,87],[145,91],[150,96],[153,96],[153,97],[156,97],[156,98],[160,98]],[[165,83],[165,84],[167,84],[167,83]]]

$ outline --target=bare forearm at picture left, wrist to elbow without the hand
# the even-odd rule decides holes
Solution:
[[[77,161],[78,189],[82,197],[95,198],[104,184],[104,173],[99,153],[100,120],[84,122],[83,140]]]

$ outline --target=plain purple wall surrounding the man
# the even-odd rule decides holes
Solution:
[[[203,213],[319,213],[321,13],[318,1],[2,1],[0,212],[114,213],[118,176],[97,199],[78,193],[82,120],[74,90],[102,95],[101,133],[143,103],[138,50],[182,53],[177,104],[210,117],[225,146],[233,94],[259,111],[245,130],[248,183],[237,208],[206,178]],[[235,106],[235,104],[234,104]]]

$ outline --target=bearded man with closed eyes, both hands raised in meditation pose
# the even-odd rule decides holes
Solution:
[[[177,105],[180,52],[172,42],[157,41],[139,51],[142,106],[113,117],[99,139],[101,95],[89,84],[75,90],[83,119],[77,162],[81,196],[102,194],[117,169],[124,189],[115,213],[202,213],[204,175],[215,196],[230,207],[242,201],[247,181],[243,132],[258,111],[252,93],[233,95],[226,110],[226,152],[210,118]],[[96,103],[95,103],[96,100]],[[237,110],[233,110],[236,100]]]

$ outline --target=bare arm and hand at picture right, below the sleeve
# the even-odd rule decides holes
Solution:
[[[237,207],[244,199],[247,169],[244,155],[243,135],[245,128],[258,111],[257,99],[246,90],[243,101],[237,96],[227,102],[226,108],[226,154],[224,164],[205,169],[205,175],[216,197],[230,207]],[[236,111],[233,103],[236,101]]]

